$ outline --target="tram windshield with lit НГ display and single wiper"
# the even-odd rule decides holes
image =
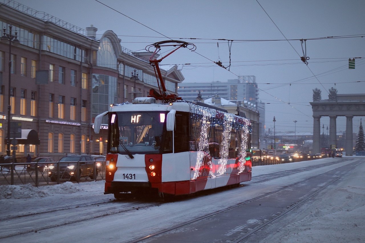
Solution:
[[[157,154],[169,150],[172,142],[167,136],[166,112],[111,112],[109,116],[110,153]]]

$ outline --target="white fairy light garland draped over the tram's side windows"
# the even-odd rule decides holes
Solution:
[[[201,176],[214,178],[216,175],[231,173],[231,169],[227,167],[227,163],[232,130],[236,134],[236,147],[234,149],[238,152],[238,174],[242,173],[245,169],[248,135],[251,133],[250,120],[192,103],[189,103],[189,111],[193,124],[192,133],[195,137],[195,141],[193,142],[197,147],[195,172],[192,179],[194,180]],[[217,115],[219,118],[217,118]],[[212,129],[214,129],[214,138],[216,140],[211,143],[219,144],[220,159],[218,160],[219,166],[216,175],[212,170],[212,157],[209,151],[208,138],[212,138],[212,135],[209,136]]]

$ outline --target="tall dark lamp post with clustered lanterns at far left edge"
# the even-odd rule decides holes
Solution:
[[[8,84],[8,124],[7,124],[7,128],[8,128],[8,134],[7,134],[7,141],[6,141],[6,145],[7,145],[7,150],[6,150],[6,155],[7,157],[10,157],[10,85],[11,85],[11,45],[13,44],[14,46],[19,45],[19,40],[18,40],[18,32],[15,31],[15,35],[11,34],[11,29],[12,26],[9,25],[9,34],[6,33],[6,27],[3,28],[3,36],[1,36],[1,41],[2,42],[9,42],[9,84]]]

